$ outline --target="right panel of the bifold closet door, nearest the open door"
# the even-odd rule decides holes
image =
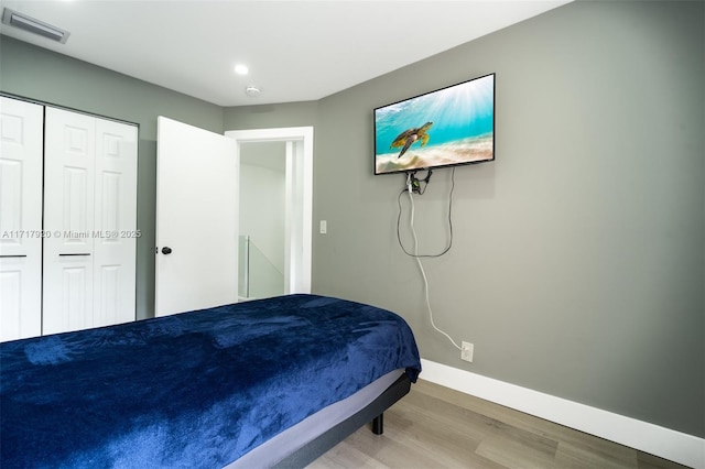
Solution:
[[[96,326],[134,320],[137,255],[137,128],[96,124],[94,319]]]

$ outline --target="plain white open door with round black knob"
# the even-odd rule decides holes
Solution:
[[[158,119],[155,315],[238,301],[236,142]]]

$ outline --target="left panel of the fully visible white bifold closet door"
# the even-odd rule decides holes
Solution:
[[[94,326],[96,119],[46,108],[43,334]]]

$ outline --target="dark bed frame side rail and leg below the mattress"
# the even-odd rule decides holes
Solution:
[[[397,381],[394,381],[394,383],[387,388],[382,394],[366,407],[328,429],[323,435],[302,446],[273,467],[279,469],[303,468],[323,456],[328,451],[328,449],[343,441],[369,422],[371,422],[372,433],[381,435],[384,429],[383,412],[404,395],[409,394],[410,390],[411,380],[406,373],[403,373]]]

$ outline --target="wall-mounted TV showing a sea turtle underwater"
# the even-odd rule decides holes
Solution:
[[[375,109],[375,174],[495,160],[495,74]]]

